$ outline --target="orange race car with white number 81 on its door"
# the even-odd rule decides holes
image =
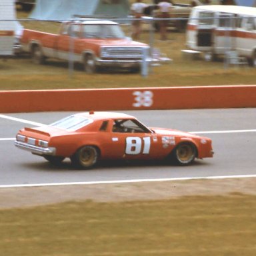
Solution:
[[[69,157],[81,169],[103,159],[172,159],[188,165],[213,157],[211,139],[182,131],[149,128],[123,113],[76,113],[51,125],[24,128],[15,145],[58,164]]]

